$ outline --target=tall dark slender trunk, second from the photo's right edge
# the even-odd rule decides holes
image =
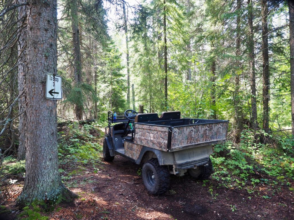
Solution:
[[[270,72],[268,68],[268,6],[267,0],[261,0],[261,21],[262,21],[262,79],[263,79],[263,88],[262,88],[262,97],[263,97],[263,129],[266,133],[269,132],[269,86],[270,86]]]

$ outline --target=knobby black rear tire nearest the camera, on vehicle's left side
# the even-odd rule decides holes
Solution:
[[[156,158],[144,163],[142,178],[148,192],[154,195],[165,193],[171,182],[167,167],[160,166]]]

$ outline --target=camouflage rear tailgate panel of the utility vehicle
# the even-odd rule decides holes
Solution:
[[[220,120],[212,123],[174,126],[171,135],[171,150],[193,145],[223,142],[227,138],[227,132],[228,121]]]

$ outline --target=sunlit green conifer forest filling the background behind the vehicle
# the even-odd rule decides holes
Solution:
[[[12,3],[1,6],[2,119],[19,94],[25,29]],[[143,104],[149,112],[228,119],[232,130],[291,128],[285,1],[59,1],[57,13],[61,118],[103,121],[108,110]]]

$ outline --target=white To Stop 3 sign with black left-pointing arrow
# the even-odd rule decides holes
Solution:
[[[46,98],[47,99],[62,99],[62,78],[61,76],[47,74],[46,81]]]

